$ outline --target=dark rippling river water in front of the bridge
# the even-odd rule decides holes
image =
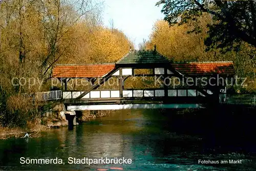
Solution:
[[[3,170],[255,170],[255,153],[248,145],[212,145],[204,137],[175,132],[168,115],[156,110],[126,110],[75,126],[51,129],[39,138],[0,141]],[[187,128],[186,128],[187,129]],[[188,127],[189,129],[189,127]],[[62,159],[65,164],[21,164],[25,159]],[[83,159],[125,158],[131,164],[69,164],[69,157]],[[202,164],[199,160],[219,161]],[[229,163],[238,160],[242,163]],[[228,164],[221,164],[227,161]],[[110,169],[112,168],[112,169]]]

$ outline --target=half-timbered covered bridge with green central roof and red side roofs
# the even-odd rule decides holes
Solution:
[[[224,100],[225,80],[233,75],[233,62],[172,63],[156,51],[130,51],[116,63],[58,65],[53,69],[69,111],[200,108],[204,103]],[[115,88],[104,89],[111,78],[118,80],[112,86]],[[125,88],[129,78],[130,82],[151,78],[152,84],[157,81],[160,86]],[[72,79],[87,79],[92,86],[69,90]]]

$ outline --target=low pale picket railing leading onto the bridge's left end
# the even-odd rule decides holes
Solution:
[[[25,93],[22,94],[25,100],[32,101],[48,101],[62,99],[62,91],[49,91],[49,92],[37,92],[37,93]]]

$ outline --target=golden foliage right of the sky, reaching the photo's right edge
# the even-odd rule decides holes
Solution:
[[[234,69],[238,77],[247,77],[247,90],[255,90],[255,48],[246,42],[241,42],[238,51],[221,53],[221,49],[206,51],[204,44],[207,38],[207,24],[213,22],[209,14],[204,14],[196,21],[174,26],[169,26],[164,20],[158,20],[150,35],[150,39],[144,42],[145,49],[154,49],[173,62],[189,61],[233,61]],[[200,26],[201,30],[194,30],[194,26]]]

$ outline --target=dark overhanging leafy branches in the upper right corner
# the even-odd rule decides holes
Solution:
[[[236,50],[241,42],[256,48],[256,2],[255,1],[219,1],[219,0],[161,0],[162,12],[169,25],[179,25],[197,20],[203,13],[209,13],[213,22],[208,25],[209,36],[205,45],[221,48],[224,52]],[[193,32],[200,32],[195,27]]]

